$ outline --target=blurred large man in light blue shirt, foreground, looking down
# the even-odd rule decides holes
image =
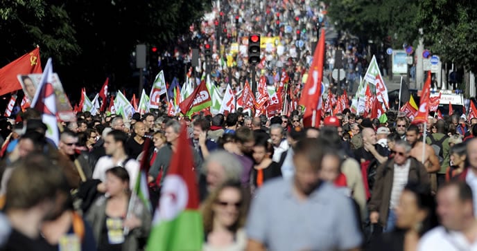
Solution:
[[[293,181],[270,180],[252,201],[247,250],[358,250],[363,238],[351,199],[320,180],[322,146],[304,139],[294,151]]]

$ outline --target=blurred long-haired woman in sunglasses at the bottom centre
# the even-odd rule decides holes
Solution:
[[[204,251],[245,250],[243,225],[248,203],[241,184],[227,181],[212,192],[202,206]]]

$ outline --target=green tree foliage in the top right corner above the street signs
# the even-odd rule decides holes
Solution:
[[[477,66],[477,12],[474,1],[419,1],[417,24],[424,44],[446,61],[474,70]]]

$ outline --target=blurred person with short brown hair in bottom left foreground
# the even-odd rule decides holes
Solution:
[[[41,154],[15,162],[12,169],[4,207],[12,232],[0,250],[49,250],[37,241],[44,219],[58,214],[64,203],[58,196],[64,176],[58,166]]]

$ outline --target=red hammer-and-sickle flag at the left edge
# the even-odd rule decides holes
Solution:
[[[21,89],[17,75],[30,73],[42,73],[40,48],[38,47],[0,68],[0,95]]]

